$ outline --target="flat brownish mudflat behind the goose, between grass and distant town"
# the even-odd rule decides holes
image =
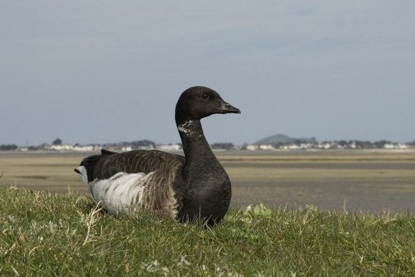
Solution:
[[[87,193],[75,168],[93,153],[0,152],[0,186]],[[415,212],[415,151],[230,151],[216,156],[232,182],[232,206]]]

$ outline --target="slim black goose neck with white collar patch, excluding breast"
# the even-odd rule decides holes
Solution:
[[[210,158],[216,160],[208,141],[205,139],[200,120],[187,120],[183,123],[177,123],[177,129],[183,143],[186,165]]]

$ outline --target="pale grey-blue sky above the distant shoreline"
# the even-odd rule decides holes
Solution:
[[[415,141],[415,1],[0,1],[0,144],[180,142],[194,85],[241,114],[210,143]]]

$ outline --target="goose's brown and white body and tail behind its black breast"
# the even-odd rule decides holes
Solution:
[[[133,211],[176,215],[181,206],[185,158],[156,150],[133,150],[85,158],[77,170],[91,197],[111,214]],[[75,170],[76,171],[76,170]]]

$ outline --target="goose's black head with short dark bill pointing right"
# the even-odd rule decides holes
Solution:
[[[219,93],[208,87],[191,87],[178,98],[176,123],[201,120],[212,114],[241,114],[241,111],[225,102]]]

